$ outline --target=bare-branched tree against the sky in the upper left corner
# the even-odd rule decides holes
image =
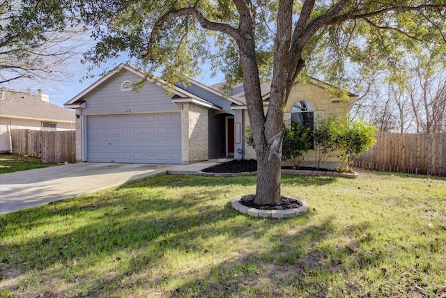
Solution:
[[[50,8],[47,8],[50,9]],[[0,84],[19,79],[70,77],[70,63],[79,63],[86,51],[84,31],[54,24],[36,16],[43,8],[30,8],[18,0],[0,0]]]

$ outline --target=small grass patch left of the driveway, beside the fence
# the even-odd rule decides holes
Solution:
[[[0,174],[46,168],[47,166],[56,166],[56,164],[43,164],[42,159],[38,157],[0,153]]]

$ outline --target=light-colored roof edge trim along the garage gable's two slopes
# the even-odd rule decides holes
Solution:
[[[171,86],[169,85],[169,83],[160,79],[159,77],[148,75],[146,74],[146,72],[137,70],[136,68],[132,68],[131,66],[123,63],[118,65],[116,68],[114,68],[114,70],[109,72],[104,77],[98,79],[98,81],[95,81],[81,93],[79,93],[75,97],[72,97],[72,99],[66,102],[66,104],[64,104],[63,106],[68,108],[82,107],[82,104],[84,104],[86,98],[89,97],[89,95],[93,91],[95,91],[95,88],[98,88],[101,84],[105,83],[107,80],[114,77],[114,75],[116,75],[120,70],[128,70],[129,72],[132,72],[134,75],[141,77],[141,79],[147,79],[151,83],[156,84],[157,86],[160,86],[162,88],[165,89],[171,88],[171,93],[174,94],[174,96],[172,97],[172,102],[193,102],[194,104],[199,104],[203,107],[216,109],[218,111],[222,110],[221,107],[218,107],[212,102],[209,102],[208,100],[204,100],[203,98],[198,97],[197,95],[185,91],[183,88],[180,88],[179,86]]]

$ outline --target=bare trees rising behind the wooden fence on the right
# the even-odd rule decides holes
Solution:
[[[362,116],[382,132],[445,132],[446,72],[441,61],[426,53],[408,55],[399,69],[376,74],[362,82],[363,89],[352,116]],[[395,75],[393,75],[395,76]]]

